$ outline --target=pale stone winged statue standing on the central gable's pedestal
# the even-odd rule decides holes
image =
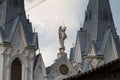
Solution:
[[[63,50],[65,50],[64,40],[67,38],[67,35],[66,35],[65,31],[66,31],[66,27],[65,26],[63,28],[62,28],[62,26],[59,27],[60,49],[63,49]]]

